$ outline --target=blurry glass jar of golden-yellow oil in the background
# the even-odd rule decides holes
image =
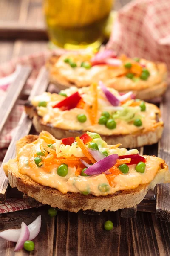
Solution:
[[[44,0],[50,40],[65,49],[98,48],[113,0]]]

